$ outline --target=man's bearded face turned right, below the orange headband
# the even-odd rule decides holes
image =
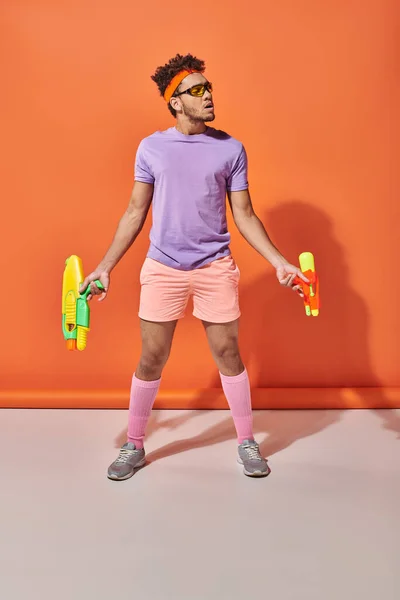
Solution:
[[[201,73],[192,73],[188,75],[178,88],[178,96],[175,101],[180,102],[182,114],[189,117],[191,121],[209,122],[214,121],[214,102],[212,93],[209,90],[204,92],[203,96],[191,96],[190,94],[182,94],[193,86],[206,84],[208,80]],[[173,105],[175,108],[175,106]]]

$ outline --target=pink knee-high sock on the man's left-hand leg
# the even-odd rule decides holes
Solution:
[[[128,442],[136,448],[143,448],[147,421],[156,399],[161,379],[142,381],[132,377],[131,399],[129,402]]]

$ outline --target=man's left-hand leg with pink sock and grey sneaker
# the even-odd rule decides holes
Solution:
[[[108,477],[129,479],[145,464],[143,441],[161,374],[168,360],[177,321],[162,323],[140,320],[142,353],[132,377],[129,403],[128,441],[108,468]]]

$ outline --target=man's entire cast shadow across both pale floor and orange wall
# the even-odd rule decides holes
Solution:
[[[252,387],[379,388],[369,354],[368,311],[352,288],[343,248],[335,239],[331,220],[323,211],[302,201],[286,202],[260,217],[288,260],[297,264],[301,252],[314,253],[321,278],[321,313],[318,318],[306,317],[302,301],[278,284],[274,272],[241,288],[240,347],[244,363],[251,364]],[[208,387],[221,387],[218,373]],[[202,395],[197,399],[200,405],[202,399]],[[345,398],[343,404],[346,405]],[[360,392],[360,408],[375,406],[391,406],[384,389],[365,397]],[[261,438],[263,454],[270,456],[336,423],[342,412],[292,411],[291,416],[285,414],[284,418],[279,411],[257,412],[254,431]],[[400,434],[396,413],[374,412],[386,429]],[[198,414],[188,411],[162,423],[153,414],[147,434],[159,426],[173,430]],[[149,461],[234,438],[229,415],[194,438],[172,441],[152,452]],[[116,446],[125,440],[126,430],[115,440]]]

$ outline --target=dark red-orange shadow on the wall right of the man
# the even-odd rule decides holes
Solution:
[[[305,316],[301,300],[261,276],[241,294],[241,347],[251,360],[255,387],[376,387],[368,349],[368,312],[351,286],[344,251],[330,218],[305,202],[268,211],[264,223],[274,243],[294,264],[314,253],[321,279],[321,313]]]

